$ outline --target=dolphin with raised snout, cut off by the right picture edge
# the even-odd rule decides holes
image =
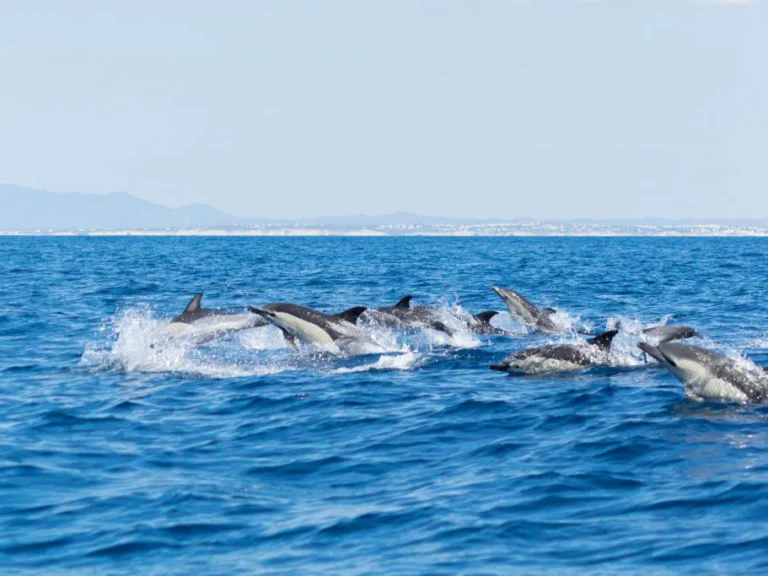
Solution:
[[[652,356],[680,380],[685,393],[694,400],[765,402],[768,400],[768,373],[700,346],[667,342],[639,348]]]

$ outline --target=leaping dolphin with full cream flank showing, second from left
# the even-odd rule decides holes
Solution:
[[[302,341],[314,344],[321,350],[336,356],[386,352],[355,326],[360,314],[366,310],[363,306],[351,308],[333,316],[287,302],[275,302],[248,309],[277,326],[294,350],[296,342]]]

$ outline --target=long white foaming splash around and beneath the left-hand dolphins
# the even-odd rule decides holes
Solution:
[[[80,366],[93,371],[179,373],[209,378],[262,376],[287,370],[342,374],[410,370],[423,363],[433,347],[455,346],[457,342],[480,344],[473,335],[467,337],[466,329],[457,330],[454,336],[433,330],[404,335],[372,325],[365,331],[385,353],[359,366],[338,367],[350,359],[318,354],[311,345],[300,344],[298,351],[293,352],[274,326],[214,339],[209,333],[198,334],[194,326],[184,328],[179,335],[167,319],[159,318],[148,307],[128,310],[104,324],[103,338],[85,347]]]

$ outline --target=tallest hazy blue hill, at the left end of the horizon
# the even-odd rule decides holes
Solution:
[[[207,204],[168,208],[123,192],[57,194],[0,184],[0,230],[158,230],[237,222]]]

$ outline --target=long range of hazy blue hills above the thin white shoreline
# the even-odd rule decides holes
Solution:
[[[411,212],[296,219],[238,218],[207,204],[168,208],[123,192],[103,195],[57,194],[11,184],[0,184],[0,231],[35,232],[39,230],[45,233],[50,230],[247,229],[252,227],[279,230],[306,227],[323,228],[329,231],[386,228],[396,229],[393,232],[396,234],[408,234],[413,226],[441,228],[445,231],[451,227],[493,224],[517,225],[521,230],[530,232],[535,229],[541,233],[551,233],[553,229],[570,233],[608,228],[642,233],[644,228],[663,231],[669,227],[691,228],[705,224],[737,228],[768,227],[768,220],[764,218],[754,220],[637,218],[537,221],[530,218],[450,218],[424,216]],[[533,233],[539,233],[535,230]]]

